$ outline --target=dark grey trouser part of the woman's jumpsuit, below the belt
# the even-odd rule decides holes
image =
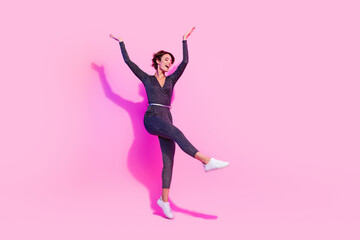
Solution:
[[[184,134],[172,124],[171,115],[169,121],[155,115],[145,114],[144,117],[146,131],[159,137],[163,158],[162,188],[170,188],[174,165],[175,142],[185,153],[194,158],[195,154],[198,152],[198,150],[186,139]]]

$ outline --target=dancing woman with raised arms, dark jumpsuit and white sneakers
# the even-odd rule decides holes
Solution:
[[[145,112],[144,125],[145,129],[152,135],[157,135],[160,141],[160,148],[163,158],[162,171],[162,196],[157,201],[164,214],[168,218],[173,218],[172,210],[168,202],[169,189],[172,178],[175,142],[179,147],[191,157],[200,160],[203,163],[205,172],[221,169],[229,165],[228,162],[220,161],[215,158],[200,153],[184,136],[184,134],[172,124],[170,113],[171,97],[173,88],[180,78],[188,63],[187,38],[194,31],[193,27],[183,36],[183,60],[177,67],[176,71],[170,76],[165,74],[175,61],[174,56],[166,51],[159,51],[154,54],[152,66],[155,68],[154,75],[148,75],[143,72],[135,63],[133,63],[125,49],[125,44],[121,38],[110,34],[120,44],[121,53],[125,63],[131,71],[142,81],[145,86],[149,106]]]

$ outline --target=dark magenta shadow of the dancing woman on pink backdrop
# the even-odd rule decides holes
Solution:
[[[143,98],[140,102],[132,102],[114,93],[106,79],[103,66],[92,63],[91,67],[99,74],[105,96],[119,107],[127,111],[130,116],[134,141],[130,147],[127,158],[127,166],[131,174],[146,187],[149,192],[150,207],[153,214],[163,216],[156,201],[161,195],[161,171],[162,159],[159,140],[157,137],[146,132],[143,125],[143,117],[147,107],[147,96],[144,86],[139,84],[139,94]],[[215,215],[208,215],[187,210],[176,205],[172,200],[171,206],[174,212],[181,212],[193,217],[204,219],[217,219]]]

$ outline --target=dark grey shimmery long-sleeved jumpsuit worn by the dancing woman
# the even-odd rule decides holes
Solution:
[[[124,61],[144,84],[149,103],[171,104],[174,85],[184,72],[189,60],[186,40],[183,40],[182,44],[183,60],[175,72],[166,77],[165,83],[163,87],[161,87],[154,75],[148,75],[130,60],[124,42],[120,42],[120,49]],[[174,165],[175,142],[184,152],[192,157],[195,157],[198,150],[186,139],[184,134],[173,125],[171,112],[167,107],[149,105],[144,115],[144,125],[150,134],[159,137],[163,158],[162,187],[170,188]]]

